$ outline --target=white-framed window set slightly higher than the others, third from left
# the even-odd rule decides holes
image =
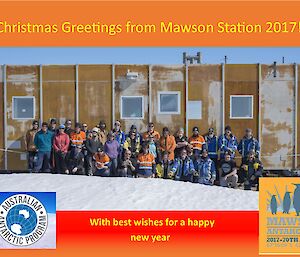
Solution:
[[[180,91],[158,92],[159,114],[180,114]]]

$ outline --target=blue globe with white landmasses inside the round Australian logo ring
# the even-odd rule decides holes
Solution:
[[[11,208],[6,216],[8,229],[18,236],[26,236],[34,231],[37,225],[35,211],[24,204]]]

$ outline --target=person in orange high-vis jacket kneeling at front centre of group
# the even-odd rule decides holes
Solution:
[[[142,146],[142,153],[139,154],[137,177],[153,178],[155,176],[155,157],[149,153],[149,146],[144,143]]]

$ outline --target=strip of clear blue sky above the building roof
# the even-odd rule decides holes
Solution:
[[[202,52],[203,63],[300,63],[300,48],[259,47],[18,47],[0,48],[0,64],[181,64],[182,53]]]

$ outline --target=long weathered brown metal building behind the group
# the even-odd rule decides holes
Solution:
[[[32,120],[121,120],[145,131],[184,127],[202,134],[252,128],[267,169],[299,167],[298,65],[0,66],[0,169],[26,169],[23,137]],[[5,149],[9,150],[5,152]]]

